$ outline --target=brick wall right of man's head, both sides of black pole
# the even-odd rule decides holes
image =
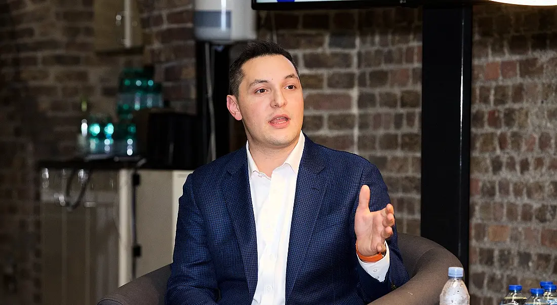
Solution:
[[[377,164],[398,229],[419,234],[421,12],[278,12],[300,65],[304,130]],[[473,15],[471,304],[557,277],[557,9]],[[272,38],[270,17],[262,38]]]

